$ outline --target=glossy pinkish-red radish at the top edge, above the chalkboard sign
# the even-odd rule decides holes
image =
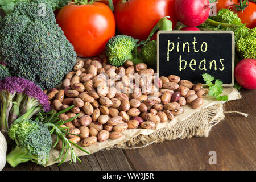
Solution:
[[[203,24],[210,14],[209,0],[176,0],[175,13],[181,23],[188,27]]]

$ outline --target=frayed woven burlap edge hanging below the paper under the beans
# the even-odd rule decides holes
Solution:
[[[199,119],[199,122],[195,123],[195,117]],[[201,118],[204,118],[204,121],[200,121]],[[146,147],[152,143],[161,143],[164,140],[185,139],[192,138],[194,136],[208,137],[212,127],[217,125],[224,118],[223,105],[216,104],[193,113],[187,119],[177,122],[171,127],[158,129],[149,135],[138,135],[127,142],[116,144],[106,149],[135,149]],[[191,121],[194,122],[193,125],[191,125]]]

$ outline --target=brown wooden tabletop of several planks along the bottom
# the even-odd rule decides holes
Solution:
[[[4,170],[255,170],[256,109],[255,90],[241,90],[242,99],[224,105],[226,111],[248,113],[226,114],[207,138],[165,141],[137,150],[105,150],[83,156],[82,162],[49,167],[32,162],[16,168],[6,164]],[[217,164],[209,164],[209,152],[216,151]]]

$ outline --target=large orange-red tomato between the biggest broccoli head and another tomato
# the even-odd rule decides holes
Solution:
[[[56,22],[80,57],[100,54],[106,42],[115,35],[114,14],[100,2],[64,6],[57,14]]]

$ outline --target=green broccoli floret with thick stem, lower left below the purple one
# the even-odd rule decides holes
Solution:
[[[23,120],[11,125],[8,135],[17,144],[6,156],[6,161],[12,167],[29,160],[40,165],[47,163],[52,139],[46,125],[38,121]]]

